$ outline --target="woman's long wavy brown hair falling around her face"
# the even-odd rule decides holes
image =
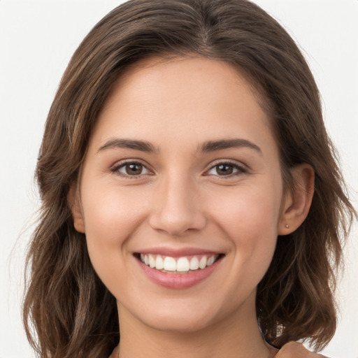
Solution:
[[[280,24],[246,0],[131,0],[76,50],[50,108],[36,168],[42,208],[23,306],[31,345],[40,357],[65,358],[108,357],[118,343],[115,297],[92,268],[67,196],[108,92],[128,66],[152,55],[199,55],[236,66],[264,98],[286,187],[294,185],[290,168],[313,166],[310,213],[278,238],[257,289],[257,317],[273,345],[309,338],[322,348],[336,329],[334,272],[355,211],[305,59]]]

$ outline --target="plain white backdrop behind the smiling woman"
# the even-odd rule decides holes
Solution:
[[[34,168],[66,64],[88,31],[123,1],[0,0],[0,358],[33,357],[20,318],[24,252],[38,208]],[[256,0],[289,31],[317,80],[350,197],[358,189],[358,1]],[[340,320],[324,350],[358,358],[357,224],[345,249]]]

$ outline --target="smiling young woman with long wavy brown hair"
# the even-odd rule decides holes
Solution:
[[[41,357],[289,357],[333,336],[354,210],[305,60],[249,1],[109,13],[64,73],[36,174]]]

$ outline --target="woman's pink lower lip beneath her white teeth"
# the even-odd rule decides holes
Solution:
[[[148,278],[157,285],[170,289],[185,289],[208,278],[215,271],[221,260],[222,259],[220,258],[212,265],[206,266],[206,268],[189,273],[166,273],[159,271],[156,268],[151,268],[139,260],[138,262]]]

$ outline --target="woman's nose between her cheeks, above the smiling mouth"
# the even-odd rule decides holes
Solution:
[[[203,229],[206,215],[200,208],[198,190],[193,183],[178,177],[163,181],[153,195],[150,226],[171,236]]]

